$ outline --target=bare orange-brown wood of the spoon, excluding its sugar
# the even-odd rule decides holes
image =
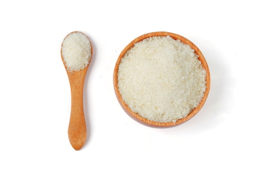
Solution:
[[[74,31],[72,33],[77,33],[77,32],[79,31]],[[67,36],[65,38],[67,38]],[[90,45],[91,45],[91,55],[92,55],[91,42],[90,42]],[[63,46],[63,43],[61,47],[62,46]],[[65,61],[63,59],[62,49],[61,49],[61,58],[65,66],[65,69],[67,71],[67,76],[68,76],[68,79],[70,82],[70,88],[71,88],[71,113],[70,113],[70,122],[68,126],[68,138],[72,147],[75,150],[79,150],[84,145],[86,140],[86,135],[87,135],[85,117],[83,112],[83,84],[84,84],[85,75],[88,70],[88,66],[90,65],[90,61],[92,57],[90,58],[88,65],[80,71],[70,71],[67,68]]]

